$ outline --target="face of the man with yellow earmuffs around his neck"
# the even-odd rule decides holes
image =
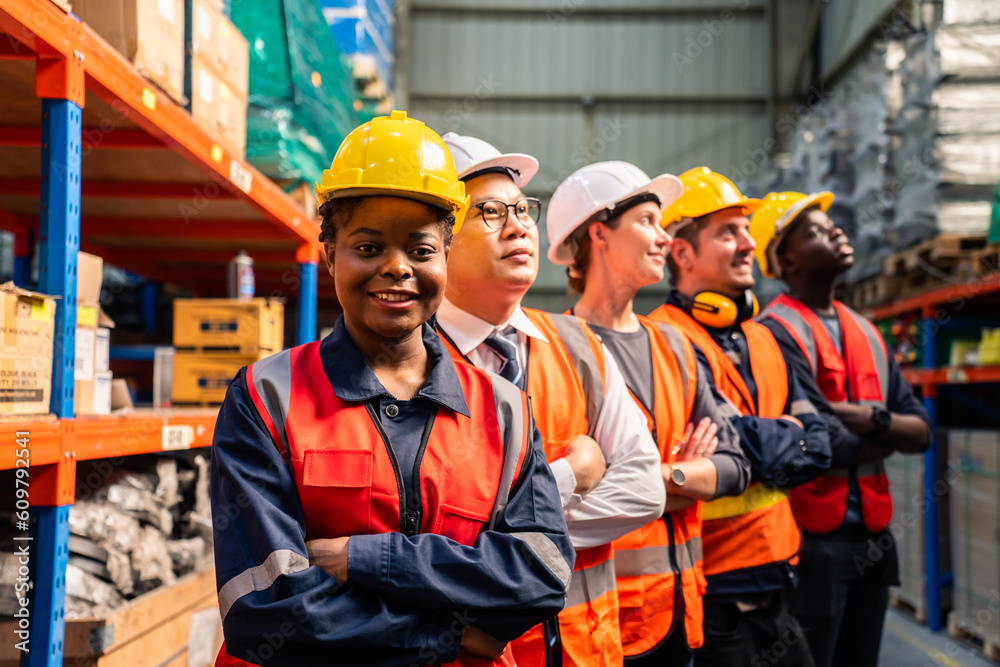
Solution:
[[[754,286],[750,219],[741,208],[711,213],[693,244],[678,237],[671,255],[680,267],[678,288],[685,294],[714,291],[738,298]]]

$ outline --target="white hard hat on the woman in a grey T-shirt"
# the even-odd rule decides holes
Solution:
[[[576,254],[573,234],[584,223],[608,220],[639,203],[630,200],[643,194],[655,195],[662,211],[683,190],[676,176],[663,174],[650,180],[642,169],[628,162],[595,162],[577,169],[559,184],[549,201],[545,215],[549,260],[563,266],[573,263]],[[621,209],[622,204],[627,207]]]

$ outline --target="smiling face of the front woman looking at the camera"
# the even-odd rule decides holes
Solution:
[[[327,244],[330,275],[357,341],[417,332],[441,305],[446,212],[399,197],[366,197]]]

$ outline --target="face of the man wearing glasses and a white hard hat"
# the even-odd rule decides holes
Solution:
[[[538,275],[538,226],[525,227],[510,210],[504,226],[492,229],[476,204],[496,199],[515,204],[521,190],[505,174],[483,174],[466,182],[469,213],[448,260],[448,299],[476,314],[476,302],[490,293],[528,291]]]

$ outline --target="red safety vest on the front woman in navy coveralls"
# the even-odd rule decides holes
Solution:
[[[342,401],[320,359],[320,342],[294,347],[247,368],[247,387],[275,446],[291,464],[306,540],[416,532],[472,546],[506,506],[531,447],[528,401],[509,384],[464,363],[455,371],[471,419],[438,407],[420,459],[419,511],[401,498],[398,466],[365,403]],[[269,407],[281,407],[271,414]],[[477,474],[466,474],[475,464]],[[336,511],[331,511],[336,509]],[[249,665],[226,653],[216,667]],[[460,651],[461,667],[513,667]]]

